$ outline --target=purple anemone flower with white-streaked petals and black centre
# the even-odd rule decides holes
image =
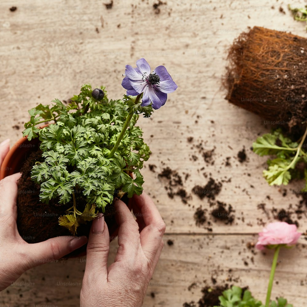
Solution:
[[[167,94],[176,90],[176,83],[164,66],[158,66],[151,72],[144,58],[137,60],[136,66],[133,68],[126,65],[122,86],[127,90],[127,95],[136,96],[143,93],[142,107],[152,103],[154,109],[161,108],[166,102]]]

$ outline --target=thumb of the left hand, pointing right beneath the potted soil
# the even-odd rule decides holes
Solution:
[[[61,236],[43,242],[27,244],[30,267],[58,260],[87,243],[87,237]]]

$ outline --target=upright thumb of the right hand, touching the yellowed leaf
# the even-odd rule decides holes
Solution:
[[[98,218],[93,220],[88,237],[84,276],[98,274],[100,280],[105,279],[107,281],[109,250],[109,230],[104,221],[104,216],[99,213]]]

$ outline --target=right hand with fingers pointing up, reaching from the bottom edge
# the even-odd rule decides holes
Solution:
[[[93,221],[80,293],[81,307],[142,306],[148,283],[161,255],[165,223],[151,198],[134,195],[137,220],[121,200],[114,206],[119,224],[119,248],[107,267],[110,241],[104,217]]]

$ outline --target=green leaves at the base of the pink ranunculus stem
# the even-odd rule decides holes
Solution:
[[[232,286],[231,289],[223,291],[219,296],[220,306],[222,307],[265,307],[262,302],[256,300],[249,290],[245,290],[242,295],[242,288]],[[214,306],[214,307],[220,307]],[[287,304],[285,298],[279,297],[277,302],[270,301],[269,307],[293,307],[291,304]]]

